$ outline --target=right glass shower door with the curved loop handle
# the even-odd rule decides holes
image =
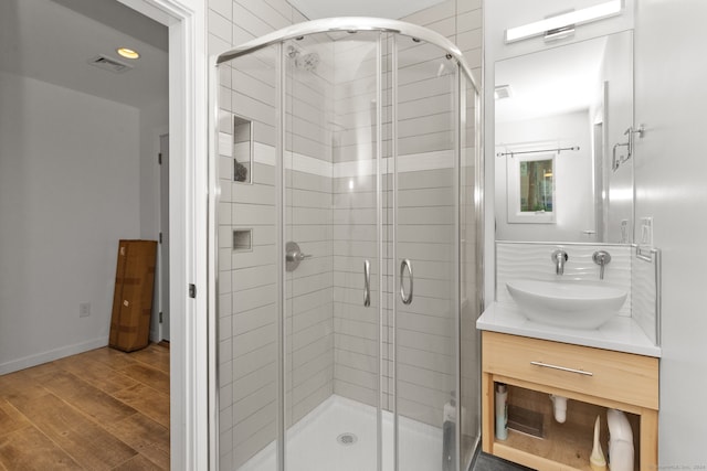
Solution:
[[[390,162],[397,469],[456,471],[458,69],[432,44],[397,41]]]

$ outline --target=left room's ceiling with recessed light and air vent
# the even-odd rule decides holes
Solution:
[[[140,53],[122,58],[116,47]],[[168,97],[168,30],[116,0],[0,0],[0,71],[134,107]],[[104,54],[134,68],[88,61]]]

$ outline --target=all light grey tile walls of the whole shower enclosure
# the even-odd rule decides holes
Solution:
[[[209,52],[219,54],[306,19],[285,0],[209,0]],[[451,0],[404,21],[461,42],[481,76],[481,0]],[[331,38],[334,38],[333,35]],[[380,332],[378,264],[371,266],[371,308],[362,306],[362,264],[384,257],[384,293],[392,287],[391,245],[378,254],[376,232],[376,42],[328,35],[292,43],[286,90],[286,238],[312,255],[286,277],[286,422],[292,425],[331,394],[376,404]],[[453,253],[451,79],[444,57],[429,45],[400,44],[399,257],[415,254],[415,302],[399,302],[401,413],[436,426],[454,388],[451,276]],[[285,49],[287,45],[285,45]],[[287,52],[287,50],[286,50]],[[310,55],[313,54],[313,55]],[[316,54],[316,56],[314,55]],[[308,56],[308,57],[306,57]],[[352,60],[354,57],[354,60]],[[387,56],[388,57],[388,56]],[[424,57],[430,57],[425,61]],[[310,67],[318,58],[318,64]],[[308,61],[314,61],[309,62]],[[383,83],[390,82],[384,71]],[[437,76],[441,74],[441,77]],[[219,387],[220,465],[238,469],[276,436],[275,57],[272,49],[219,67]],[[386,92],[383,118],[390,117]],[[373,103],[373,105],[371,105]],[[467,100],[467,115],[474,116]],[[253,120],[253,184],[233,182],[231,119]],[[467,119],[472,126],[473,119]],[[383,126],[388,139],[390,126]],[[469,138],[471,140],[471,138]],[[383,157],[390,142],[383,142]],[[408,159],[409,158],[409,159]],[[408,160],[405,160],[408,159]],[[412,162],[412,163],[405,163]],[[473,159],[471,159],[473,164]],[[347,167],[348,165],[348,167]],[[405,167],[408,165],[408,167]],[[360,172],[354,178],[352,170]],[[404,171],[404,172],[403,172]],[[472,199],[473,172],[466,196]],[[390,208],[383,180],[383,203]],[[354,192],[351,192],[351,188]],[[473,210],[473,205],[468,205]],[[386,223],[390,210],[383,211]],[[474,233],[474,217],[463,229]],[[430,226],[432,225],[432,226]],[[252,249],[234,251],[234,229],[252,229]],[[390,237],[390,225],[384,233]],[[467,237],[466,244],[474,237]],[[409,257],[413,258],[413,257]],[[466,280],[475,254],[466,250]],[[469,289],[473,291],[473,289]],[[469,297],[473,297],[473,292]],[[390,306],[384,306],[386,321]],[[473,310],[473,309],[472,309]],[[383,330],[383,407],[392,406],[392,332]]]

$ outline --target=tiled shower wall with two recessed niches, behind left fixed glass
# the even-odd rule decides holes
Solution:
[[[245,6],[229,2],[229,9],[223,1],[215,3],[210,19],[219,17],[229,24],[232,24],[230,18],[243,18],[245,7],[267,6],[253,1],[243,2],[249,3]],[[282,18],[276,11],[271,13],[271,21]],[[222,34],[225,42],[219,43],[223,49],[214,53],[233,45],[231,28],[218,24],[214,32],[210,21],[209,31],[212,36]],[[263,50],[223,64],[219,74],[219,453],[220,468],[230,470],[238,469],[276,437],[274,51]],[[254,163],[250,169],[250,184],[234,182],[232,147],[236,115],[253,121]],[[252,229],[251,249],[235,250],[232,233],[243,228]],[[289,325],[288,333],[292,334]]]

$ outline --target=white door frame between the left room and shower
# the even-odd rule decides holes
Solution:
[[[209,469],[208,53],[202,0],[118,0],[169,29],[170,457]],[[196,287],[196,297],[189,286]]]

